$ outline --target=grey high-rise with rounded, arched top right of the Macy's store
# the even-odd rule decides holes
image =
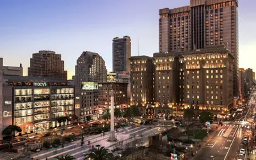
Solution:
[[[106,82],[107,69],[103,58],[95,52],[85,51],[77,59],[75,85],[82,82]]]

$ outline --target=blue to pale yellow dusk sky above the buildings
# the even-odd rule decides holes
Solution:
[[[77,58],[92,51],[110,72],[114,37],[131,36],[132,56],[152,56],[159,51],[159,9],[186,5],[189,0],[1,0],[0,57],[7,66],[22,63],[26,76],[33,53],[55,51],[71,79]],[[239,0],[239,67],[253,70],[255,6],[255,0]]]

